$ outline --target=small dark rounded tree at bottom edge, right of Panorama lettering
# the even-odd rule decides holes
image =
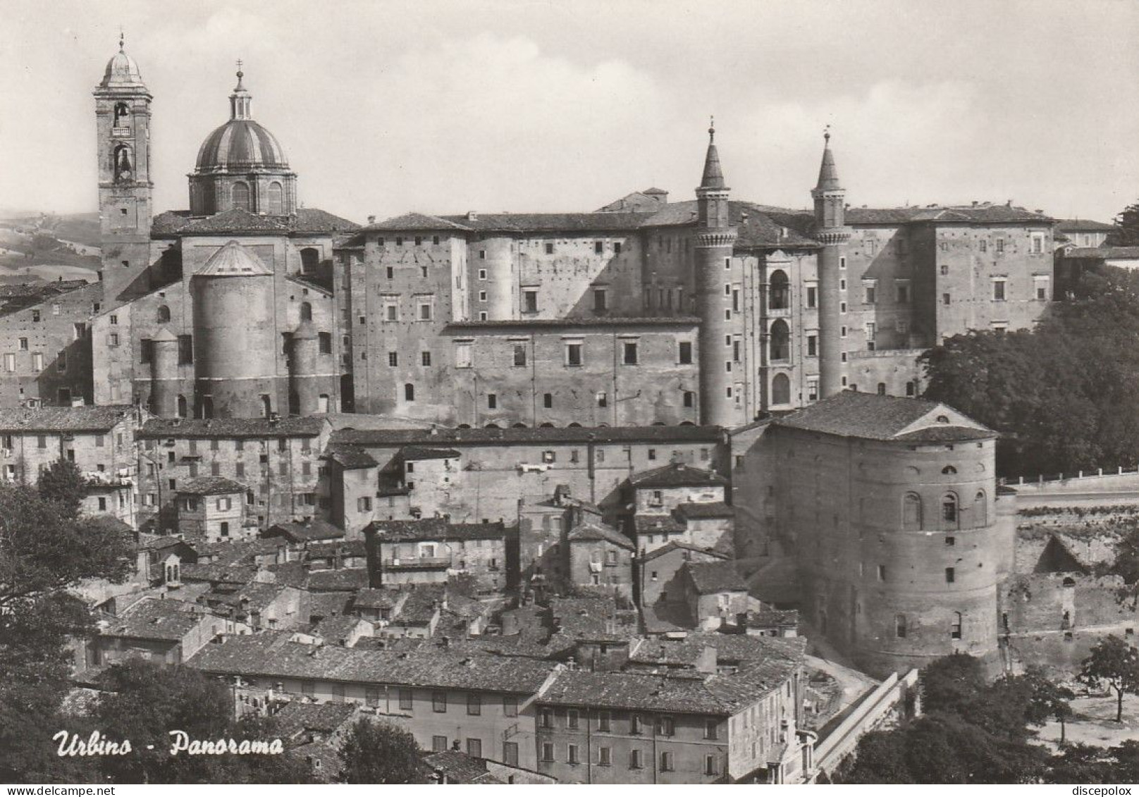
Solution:
[[[402,728],[358,720],[341,747],[342,783],[426,783],[416,739]]]

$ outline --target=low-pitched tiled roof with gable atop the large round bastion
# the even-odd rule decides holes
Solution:
[[[939,422],[945,418],[949,422]],[[842,437],[910,442],[936,442],[949,428],[952,439],[990,439],[997,433],[962,416],[945,404],[923,398],[883,396],[876,393],[843,391],[834,396],[792,412],[773,422],[776,427],[819,432]]]

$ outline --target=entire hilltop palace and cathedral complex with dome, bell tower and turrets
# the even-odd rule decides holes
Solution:
[[[810,209],[734,198],[710,129],[678,200],[650,188],[592,212],[360,227],[301,206],[240,66],[189,209],[155,214],[153,97],[120,44],[93,92],[100,282],[48,319],[0,322],[14,339],[43,324],[38,356],[11,346],[5,403],[731,428],[847,388],[918,395],[926,347],[1031,327],[1051,298],[1051,219],[852,206],[829,133]]]

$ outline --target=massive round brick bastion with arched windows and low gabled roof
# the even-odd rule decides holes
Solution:
[[[954,651],[995,664],[1015,507],[995,487],[994,432],[850,391],[760,432],[736,500],[796,564],[806,622],[871,674]]]

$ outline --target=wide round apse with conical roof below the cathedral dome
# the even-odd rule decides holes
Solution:
[[[273,272],[229,241],[190,279],[198,414],[255,418],[278,411]]]

